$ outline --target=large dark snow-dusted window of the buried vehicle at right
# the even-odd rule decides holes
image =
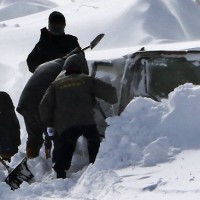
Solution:
[[[145,59],[147,92],[167,98],[177,86],[185,83],[200,84],[200,62],[185,57]]]

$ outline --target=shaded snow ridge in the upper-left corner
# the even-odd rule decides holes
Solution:
[[[31,15],[58,6],[49,0],[1,0],[0,21]]]

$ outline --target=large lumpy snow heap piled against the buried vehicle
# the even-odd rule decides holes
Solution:
[[[152,166],[181,150],[199,148],[199,99],[200,86],[189,83],[162,102],[135,98],[120,116],[107,119],[106,139],[95,165],[102,169]]]

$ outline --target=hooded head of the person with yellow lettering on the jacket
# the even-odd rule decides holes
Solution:
[[[87,61],[83,54],[74,54],[69,56],[63,65],[63,70],[65,70],[65,74],[81,74],[83,73],[83,69],[87,67]]]

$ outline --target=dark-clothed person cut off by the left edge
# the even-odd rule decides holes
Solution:
[[[20,125],[13,102],[9,94],[0,91],[0,157],[10,161],[20,144]]]

